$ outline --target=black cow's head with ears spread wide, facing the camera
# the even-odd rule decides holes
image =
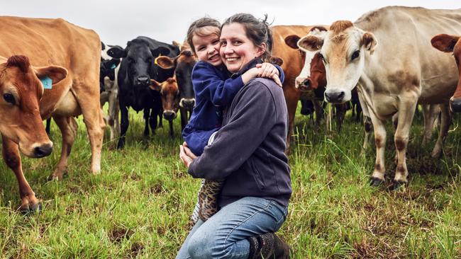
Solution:
[[[111,57],[122,58],[122,64],[127,67],[128,81],[135,91],[140,91],[150,86],[151,78],[158,80],[159,67],[154,64],[154,59],[170,54],[170,49],[162,46],[151,48],[147,40],[136,38],[129,41],[125,49],[111,47],[107,53]]]

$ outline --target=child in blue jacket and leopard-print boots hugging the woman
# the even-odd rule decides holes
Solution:
[[[221,24],[206,17],[194,21],[187,31],[187,42],[199,62],[192,70],[196,105],[189,124],[184,127],[182,137],[189,149],[197,156],[203,153],[206,145],[213,142],[214,135],[221,127],[221,109],[230,105],[240,88],[257,76],[272,78],[279,86],[282,86],[280,79],[283,81],[284,77],[280,67],[263,63],[241,76],[230,79],[219,54],[220,34]],[[222,183],[223,180],[204,179],[202,181],[199,198],[191,217],[192,226],[198,218],[206,221],[217,212],[216,197],[221,190]]]

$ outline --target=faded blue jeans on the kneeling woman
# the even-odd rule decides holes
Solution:
[[[206,222],[199,219],[176,258],[247,259],[250,253],[247,238],[277,231],[287,212],[287,207],[273,200],[243,197],[222,207]]]

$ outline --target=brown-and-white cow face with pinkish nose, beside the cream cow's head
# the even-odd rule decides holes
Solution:
[[[304,60],[304,67],[295,81],[295,87],[300,91],[317,92],[319,86],[321,86],[321,88],[325,88],[326,86],[325,67],[318,54],[319,50],[309,50],[309,46],[306,46],[305,42],[305,39],[309,38],[311,35],[323,39],[326,33],[326,28],[323,26],[316,26],[311,28],[311,31],[303,38],[299,38],[297,35],[289,35],[285,38],[285,43],[289,47],[299,50]],[[321,98],[323,98],[323,89],[321,94]]]

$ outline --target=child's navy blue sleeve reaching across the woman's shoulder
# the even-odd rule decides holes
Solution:
[[[195,86],[196,95],[206,96],[216,106],[229,105],[235,94],[244,86],[242,76],[235,79],[222,79],[211,64],[199,62],[192,73],[192,84]]]

